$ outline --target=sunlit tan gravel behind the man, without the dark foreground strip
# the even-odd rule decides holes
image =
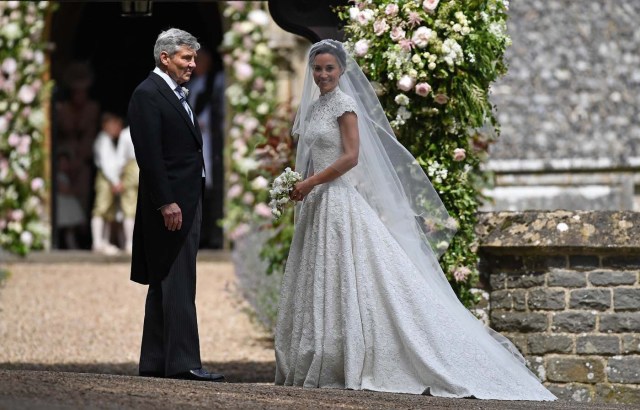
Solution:
[[[0,290],[0,368],[137,373],[146,286],[129,281],[128,263],[7,268],[11,276]],[[249,375],[252,381],[272,381],[271,340],[251,323],[234,283],[230,263],[198,263],[202,360],[212,371],[224,364],[232,373],[253,369],[259,374]]]

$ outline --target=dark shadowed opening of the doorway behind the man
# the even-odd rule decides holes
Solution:
[[[154,67],[153,44],[160,31],[178,27],[195,35],[201,45],[213,55],[212,71],[222,70],[218,45],[222,40],[223,28],[217,2],[157,2],[148,17],[123,17],[121,2],[60,2],[51,20],[50,42],[54,45],[51,53],[51,76],[55,80],[52,95],[52,139],[51,165],[53,174],[57,170],[57,155],[62,147],[61,119],[56,115],[56,104],[69,99],[68,68],[74,63],[84,63],[92,72],[89,96],[97,102],[100,112],[112,112],[124,117],[131,92]],[[73,77],[73,75],[71,76]],[[97,135],[99,124],[92,119],[90,127]],[[95,123],[94,123],[95,122]],[[219,124],[221,125],[221,124]],[[91,132],[89,133],[91,134]],[[213,189],[216,193],[206,204],[209,221],[203,223],[203,247],[222,247],[222,231],[215,220],[222,217],[222,130],[212,133],[214,140],[210,155],[215,157]],[[75,142],[71,144],[76,144]],[[80,144],[78,142],[77,144]],[[86,151],[86,149],[85,149]],[[90,150],[89,150],[90,152]],[[86,155],[85,155],[86,157]],[[91,247],[88,221],[91,218],[93,201],[93,175],[95,167],[92,158],[81,158],[80,166],[88,168],[90,176],[76,182],[91,185],[83,195],[85,223],[77,232],[77,246]],[[86,173],[86,172],[85,172]],[[74,175],[78,176],[78,175]],[[65,248],[56,218],[56,178],[52,178],[52,247]],[[204,214],[203,214],[204,216]]]

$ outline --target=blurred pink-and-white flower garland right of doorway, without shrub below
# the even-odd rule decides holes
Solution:
[[[225,231],[232,241],[252,226],[272,223],[268,187],[274,175],[290,165],[291,111],[276,95],[278,66],[265,29],[270,17],[264,2],[227,2],[224,16],[231,27],[222,44],[230,84],[231,109],[227,154]]]

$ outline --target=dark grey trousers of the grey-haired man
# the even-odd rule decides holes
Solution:
[[[172,376],[202,367],[196,317],[196,256],[202,201],[189,234],[161,283],[150,284],[144,313],[140,372]]]

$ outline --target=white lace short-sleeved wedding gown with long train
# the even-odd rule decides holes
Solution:
[[[317,171],[342,154],[337,118],[346,111],[354,102],[338,89],[312,108]],[[457,323],[448,296],[416,269],[348,172],[316,186],[297,215],[282,282],[276,384],[555,400],[479,321]]]

